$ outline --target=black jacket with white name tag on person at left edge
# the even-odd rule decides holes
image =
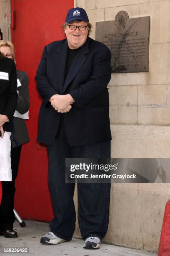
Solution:
[[[0,61],[0,74],[9,74],[9,80],[0,79],[0,114],[7,115],[8,119],[13,118],[17,105],[17,74],[13,59],[5,58]],[[3,125],[4,131],[12,131],[11,123]]]

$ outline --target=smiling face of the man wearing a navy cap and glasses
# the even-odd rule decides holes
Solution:
[[[68,25],[87,26],[87,22],[80,21],[72,24],[69,23]],[[76,28],[76,30],[71,30],[69,26],[66,25],[65,34],[67,37],[68,47],[70,49],[77,49],[85,43],[88,35],[88,28],[85,30],[80,30],[79,28]]]

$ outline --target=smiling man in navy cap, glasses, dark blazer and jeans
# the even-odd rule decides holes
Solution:
[[[65,158],[110,158],[107,84],[110,50],[88,37],[82,8],[68,11],[66,39],[47,45],[37,70],[42,97],[37,140],[47,144],[49,187],[55,217],[41,243],[70,241],[75,230],[75,184],[65,183]],[[110,184],[77,184],[78,223],[84,248],[100,248],[107,233]]]

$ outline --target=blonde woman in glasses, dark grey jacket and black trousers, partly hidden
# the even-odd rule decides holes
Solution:
[[[15,61],[15,49],[11,42],[1,40],[0,51],[4,56]],[[30,107],[28,75],[23,71],[17,70],[17,81],[18,101],[13,121],[15,128],[15,140],[18,141],[19,145],[16,145],[14,141],[12,142],[12,181],[2,182],[2,202],[0,205],[0,233],[7,238],[18,237],[17,232],[13,230],[13,223],[15,221],[15,215],[13,212],[15,179],[18,174],[22,145],[29,141],[28,131],[25,124],[25,119],[28,119],[28,110]]]

